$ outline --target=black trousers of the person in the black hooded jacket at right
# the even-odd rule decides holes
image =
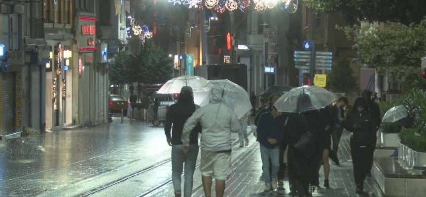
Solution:
[[[351,144],[352,164],[354,165],[355,184],[363,185],[373,163],[375,144],[359,146]]]

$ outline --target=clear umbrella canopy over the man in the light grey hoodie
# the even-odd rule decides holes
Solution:
[[[194,103],[201,107],[209,104],[210,94],[217,94],[220,103],[229,106],[238,118],[243,117],[252,108],[247,91],[227,79],[209,80],[203,88],[194,91]]]

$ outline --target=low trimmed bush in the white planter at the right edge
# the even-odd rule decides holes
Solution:
[[[426,153],[426,134],[418,133],[419,129],[405,129],[399,133],[401,144],[408,146],[409,148],[417,151]]]

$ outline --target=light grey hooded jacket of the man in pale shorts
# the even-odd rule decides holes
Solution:
[[[231,150],[231,132],[240,131],[240,122],[234,111],[221,103],[222,89],[212,87],[209,104],[197,109],[183,126],[182,142],[189,145],[191,130],[201,123],[201,150],[206,152],[223,152]]]

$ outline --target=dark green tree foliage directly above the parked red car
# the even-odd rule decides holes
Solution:
[[[108,76],[113,84],[131,83],[129,74],[131,70],[131,56],[127,51],[115,54],[115,64],[108,66]]]

